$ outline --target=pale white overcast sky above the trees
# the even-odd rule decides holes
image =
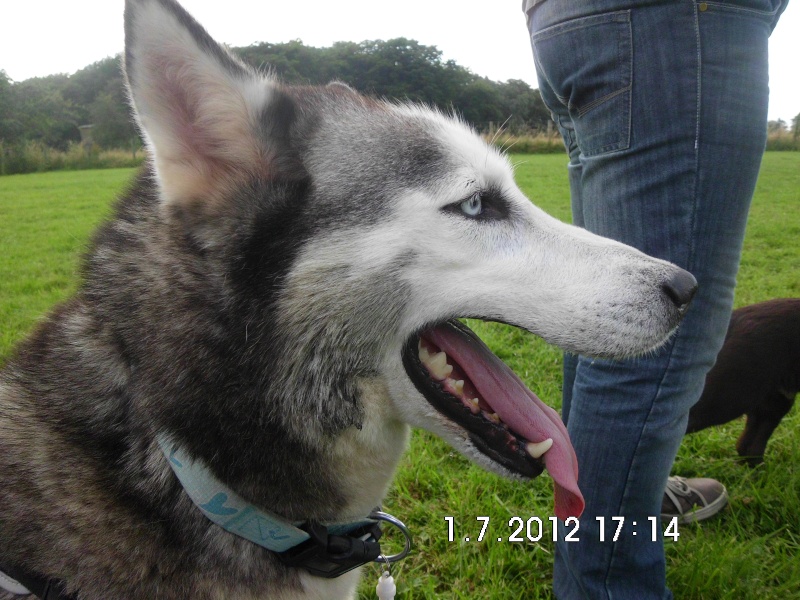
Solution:
[[[122,50],[122,0],[4,0],[0,69],[14,81],[73,73]],[[800,0],[770,40],[769,118],[800,114]],[[537,87],[520,0],[183,0],[211,35],[230,46],[299,39],[415,39],[477,75]],[[478,8],[476,8],[476,5]],[[483,6],[483,8],[481,7]]]

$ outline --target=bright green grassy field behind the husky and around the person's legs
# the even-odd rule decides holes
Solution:
[[[566,160],[516,155],[518,181],[544,209],[569,219]],[[84,171],[0,177],[0,362],[11,345],[75,287],[78,254],[131,171]],[[800,296],[800,153],[768,153],[754,199],[737,306]],[[560,405],[560,353],[532,335],[472,323],[495,352],[546,402]],[[800,599],[800,411],[784,419],[766,463],[737,463],[742,423],[687,437],[675,472],[723,481],[730,507],[719,518],[680,529],[668,542],[669,584],[676,598]],[[546,539],[552,485],[546,476],[511,482],[471,465],[449,446],[415,432],[385,510],[406,522],[415,551],[394,568],[398,599],[547,599],[553,544]],[[475,539],[489,517],[482,542]],[[498,542],[512,517],[538,516],[543,541]],[[392,539],[392,544],[397,540]],[[393,548],[388,548],[394,551]],[[376,568],[365,569],[360,597],[374,598]]]

